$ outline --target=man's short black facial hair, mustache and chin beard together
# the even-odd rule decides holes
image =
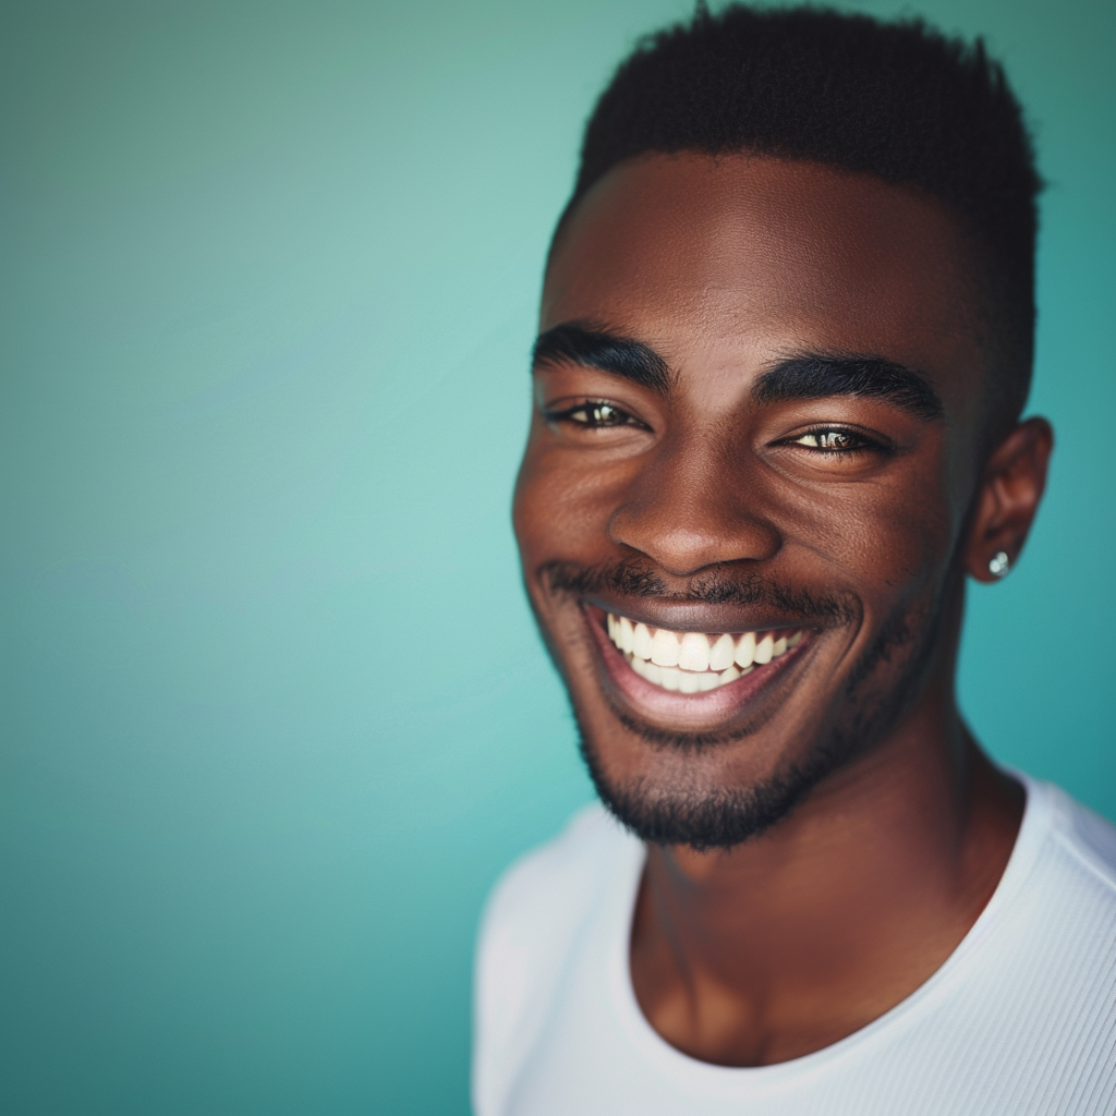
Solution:
[[[632,596],[679,599],[654,573],[632,561],[607,568],[554,564],[546,570],[543,584],[551,591],[577,596],[607,587]],[[756,574],[743,579],[705,574],[690,583],[682,599],[772,605],[802,626],[817,627],[849,623],[859,613],[852,600],[814,596]],[[702,852],[754,839],[788,817],[818,783],[869,750],[913,705],[934,658],[942,613],[940,594],[935,594],[929,605],[893,614],[853,664],[828,729],[799,759],[786,760],[747,787],[710,786],[684,777],[670,783],[645,776],[614,780],[606,773],[598,744],[574,703],[581,757],[597,795],[625,828],[650,844],[689,845]],[[625,730],[650,747],[676,754],[724,748],[753,731],[675,732],[637,721],[618,709],[613,713]]]

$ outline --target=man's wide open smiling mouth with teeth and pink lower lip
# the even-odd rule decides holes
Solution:
[[[655,720],[721,722],[752,705],[811,642],[804,627],[679,632],[584,607],[614,687]]]

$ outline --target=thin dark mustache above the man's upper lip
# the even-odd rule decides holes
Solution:
[[[747,573],[731,566],[712,567],[686,580],[679,593],[672,589],[645,559],[628,558],[616,562],[583,566],[554,559],[538,569],[539,580],[550,593],[588,597],[613,594],[624,597],[661,597],[668,600],[706,605],[759,605],[825,626],[852,623],[857,616],[854,598],[826,591],[814,593],[785,585],[756,570]]]

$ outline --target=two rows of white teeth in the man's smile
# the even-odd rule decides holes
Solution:
[[[648,682],[664,690],[696,693],[734,682],[756,665],[770,663],[802,639],[773,632],[745,632],[734,638],[724,633],[712,638],[704,632],[671,632],[633,624],[626,616],[608,614],[608,638],[625,653],[628,664]]]

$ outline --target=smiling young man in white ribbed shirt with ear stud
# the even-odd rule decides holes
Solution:
[[[490,902],[479,1116],[1116,1110],[1116,831],[953,693],[1051,449],[1038,187],[918,23],[700,11],[602,97],[514,521],[613,817]]]

